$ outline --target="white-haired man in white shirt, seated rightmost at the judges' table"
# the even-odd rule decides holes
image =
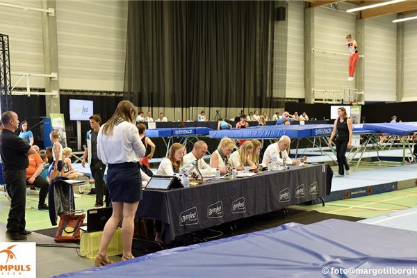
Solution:
[[[289,149],[290,145],[291,139],[286,135],[281,136],[278,142],[275,142],[266,148],[265,154],[263,154],[262,163],[267,164],[272,161],[272,158],[277,158],[278,165],[299,165],[301,161],[298,159],[292,161],[288,156],[287,149]]]

